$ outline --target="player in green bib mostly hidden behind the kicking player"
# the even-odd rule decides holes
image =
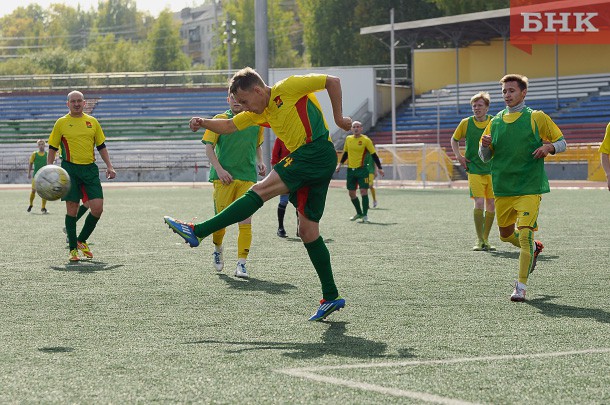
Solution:
[[[231,119],[243,109],[241,104],[229,94],[229,109],[214,118]],[[209,180],[214,184],[214,214],[218,214],[233,201],[241,197],[256,183],[257,174],[265,175],[267,167],[263,163],[261,145],[264,140],[263,127],[258,125],[244,128],[227,136],[207,130],[201,142],[212,164]],[[237,266],[235,277],[248,278],[246,259],[252,245],[252,217],[238,222]],[[222,271],[224,267],[222,241],[226,228],[212,234],[214,244],[214,267]]]

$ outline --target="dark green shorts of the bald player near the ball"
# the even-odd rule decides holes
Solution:
[[[63,197],[62,201],[79,202],[96,198],[104,198],[100,171],[95,163],[88,165],[77,165],[63,160],[63,167],[70,175],[70,191]]]

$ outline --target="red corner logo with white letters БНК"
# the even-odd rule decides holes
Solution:
[[[511,0],[510,43],[610,44],[610,0]]]

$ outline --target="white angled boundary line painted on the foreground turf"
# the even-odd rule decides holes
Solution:
[[[278,373],[287,374],[293,377],[305,378],[317,382],[328,384],[341,385],[349,388],[356,388],[364,391],[378,392],[381,394],[392,395],[395,397],[407,397],[425,402],[434,402],[438,404],[451,405],[470,405],[471,402],[461,401],[459,399],[441,397],[438,395],[428,394],[425,392],[406,391],[395,388],[387,388],[381,385],[368,384],[353,380],[344,380],[341,378],[328,377],[317,374],[327,370],[349,370],[349,369],[370,369],[383,367],[409,367],[418,365],[435,365],[435,364],[457,364],[471,363],[477,361],[498,361],[498,360],[518,360],[518,359],[536,359],[545,357],[562,357],[574,356],[580,354],[596,354],[610,353],[610,348],[586,349],[586,350],[571,350],[566,352],[550,352],[550,353],[531,353],[531,354],[507,354],[499,356],[483,356],[483,357],[458,357],[455,359],[444,360],[412,360],[400,362],[385,362],[385,363],[360,363],[360,364],[343,364],[339,366],[319,366],[319,367],[302,367],[302,368],[284,368],[275,370]]]

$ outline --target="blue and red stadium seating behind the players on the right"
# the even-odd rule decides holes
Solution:
[[[427,92],[419,95],[414,104],[405,103],[398,107],[396,143],[437,143],[438,108],[440,145],[455,163],[451,136],[460,120],[472,115],[470,97],[479,91],[487,91],[492,99],[489,108],[492,115],[505,105],[498,82],[460,84],[459,103],[456,85],[444,89],[448,96]],[[560,126],[569,144],[601,142],[609,120],[610,74],[564,76],[558,80],[554,77],[531,79],[526,104],[549,114]],[[382,118],[369,133],[375,143],[383,144],[391,143],[391,131],[391,119]]]

